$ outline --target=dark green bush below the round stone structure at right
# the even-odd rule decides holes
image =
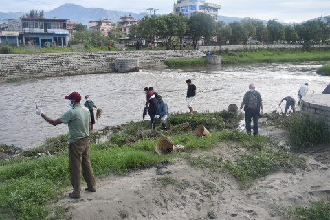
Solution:
[[[325,120],[312,120],[297,112],[283,120],[282,125],[287,129],[289,144],[297,151],[311,148],[314,144],[330,141],[329,128]]]

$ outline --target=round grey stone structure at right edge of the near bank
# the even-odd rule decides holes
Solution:
[[[330,94],[303,96],[301,100],[301,113],[316,121],[325,121],[329,126],[330,132]]]

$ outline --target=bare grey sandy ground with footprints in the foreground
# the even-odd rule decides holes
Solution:
[[[281,129],[269,127],[260,133],[267,132],[282,140]],[[274,173],[257,179],[245,190],[230,175],[193,168],[176,157],[174,164],[98,179],[97,192],[83,192],[78,200],[65,197],[58,204],[70,207],[72,219],[282,219],[275,204],[289,207],[329,197],[329,148],[323,146],[303,154],[307,170]],[[232,157],[241,151],[245,149],[237,144],[219,144],[211,151],[189,156]],[[186,188],[162,187],[157,179],[164,177]]]

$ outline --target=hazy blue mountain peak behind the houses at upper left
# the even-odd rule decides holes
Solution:
[[[100,19],[111,19],[112,22],[120,21],[120,17],[129,15],[134,19],[142,19],[148,13],[131,13],[123,11],[105,10],[103,8],[84,8],[80,5],[65,4],[54,8],[50,12],[45,12],[46,18],[58,17],[59,19],[70,19],[71,22],[79,22],[88,25],[89,21],[98,21]]]

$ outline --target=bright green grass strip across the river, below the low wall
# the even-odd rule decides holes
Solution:
[[[244,52],[222,51],[222,63],[274,63],[292,61],[330,61],[330,50],[248,50]]]

